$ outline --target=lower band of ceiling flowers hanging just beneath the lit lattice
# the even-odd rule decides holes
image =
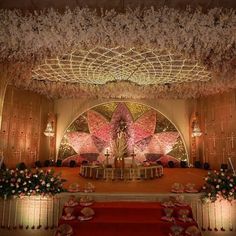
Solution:
[[[70,83],[53,83],[14,79],[15,86],[35,91],[49,98],[120,98],[120,99],[188,99],[223,93],[236,88],[236,74],[228,80],[212,82],[192,82],[171,85],[139,86],[131,82],[121,81],[105,85],[86,85]]]

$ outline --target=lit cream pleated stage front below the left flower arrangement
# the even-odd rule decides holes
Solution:
[[[23,197],[0,201],[0,225],[8,229],[53,229],[61,215],[60,197]]]

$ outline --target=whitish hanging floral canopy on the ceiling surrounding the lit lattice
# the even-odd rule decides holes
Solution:
[[[164,7],[98,13],[76,8],[64,13],[51,9],[23,14],[1,9],[0,18],[0,61],[17,68],[10,72],[11,83],[53,98],[190,98],[236,87],[234,10],[215,8],[203,13]],[[211,80],[140,86],[132,81],[88,85],[31,79],[32,69],[47,58],[63,58],[74,50],[118,46],[168,51],[196,60],[211,73]]]

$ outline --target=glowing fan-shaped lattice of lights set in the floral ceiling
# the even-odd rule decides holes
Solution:
[[[88,84],[124,80],[148,85],[207,81],[210,73],[197,61],[171,53],[97,47],[47,59],[33,70],[33,79]]]

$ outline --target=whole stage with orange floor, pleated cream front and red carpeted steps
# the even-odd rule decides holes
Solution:
[[[84,235],[87,235],[88,231],[86,229],[90,228],[92,228],[94,235],[99,235],[95,234],[96,232],[106,230],[107,234],[106,232],[105,234],[109,235],[109,232],[113,229],[116,229],[115,233],[120,232],[120,234],[123,233],[124,235],[125,229],[134,233],[138,231],[140,232],[139,235],[144,235],[142,234],[144,230],[149,228],[150,232],[155,232],[155,235],[159,232],[160,235],[167,235],[165,230],[168,230],[170,223],[160,221],[161,213],[157,213],[155,209],[160,210],[158,202],[168,201],[170,197],[174,198],[180,195],[191,207],[193,218],[202,232],[218,230],[234,233],[236,231],[234,223],[235,202],[217,201],[215,203],[203,203],[201,198],[204,193],[171,192],[173,183],[181,183],[186,186],[189,182],[194,183],[195,188],[200,191],[204,177],[207,175],[206,170],[197,168],[164,168],[165,175],[159,179],[111,181],[83,178],[79,175],[79,168],[55,167],[54,169],[55,174],[61,173],[61,177],[67,179],[67,182],[63,183],[64,188],[69,189],[71,184],[77,183],[80,186],[79,191],[60,193],[54,197],[25,196],[0,201],[1,232],[4,233],[6,230],[10,232],[9,230],[11,229],[24,229],[20,232],[24,232],[24,235],[30,235],[28,233],[34,229],[35,235],[37,235],[37,231],[39,235],[49,235],[50,231],[55,231],[57,226],[63,223],[61,221],[62,210],[72,195],[77,200],[81,199],[81,197],[89,196],[95,202],[91,206],[95,211],[94,219],[91,222],[77,221],[77,223],[74,223],[76,224],[75,230],[81,229],[85,233]],[[95,191],[92,193],[84,192],[84,187],[89,182],[95,186]],[[132,202],[130,208],[136,208],[136,210],[126,210],[130,202]],[[111,207],[112,204],[114,204],[116,209]],[[153,206],[156,208],[153,208]],[[153,211],[157,215],[153,215]],[[125,217],[129,216],[129,220],[124,220],[124,213],[127,213]],[[147,222],[148,220],[150,222]],[[143,223],[140,223],[141,221]],[[70,222],[67,221],[67,223]],[[159,223],[161,224],[159,225]],[[179,221],[177,223],[181,224]],[[165,228],[164,231],[162,231],[161,226]]]

